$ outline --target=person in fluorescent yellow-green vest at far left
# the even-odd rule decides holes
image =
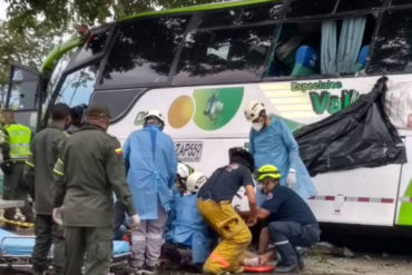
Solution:
[[[24,207],[20,208],[24,216],[24,222],[33,223],[35,214],[28,202],[28,189],[23,184],[23,169],[27,158],[30,156],[30,143],[32,132],[29,127],[17,124],[14,112],[10,109],[1,111],[0,148],[3,156],[1,169],[3,170],[3,199],[24,200]],[[6,222],[11,222],[16,217],[16,209],[4,210]]]

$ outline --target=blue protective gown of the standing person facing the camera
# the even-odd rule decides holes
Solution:
[[[281,171],[281,185],[287,185],[290,168],[296,170],[294,190],[303,198],[316,195],[315,186],[298,155],[298,146],[285,121],[271,117],[272,122],[259,131],[251,130],[249,149],[257,167],[274,165]],[[262,195],[257,194],[258,203],[263,203]]]

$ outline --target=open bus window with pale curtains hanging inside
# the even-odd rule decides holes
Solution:
[[[376,19],[284,23],[267,68],[268,77],[353,75],[366,65]]]

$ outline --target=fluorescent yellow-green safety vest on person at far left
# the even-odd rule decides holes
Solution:
[[[10,159],[26,160],[30,156],[31,130],[29,127],[12,124],[4,127],[9,134]]]

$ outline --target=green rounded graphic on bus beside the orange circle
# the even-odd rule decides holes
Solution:
[[[239,109],[243,94],[242,87],[195,90],[194,121],[197,127],[204,130],[216,130],[225,126]]]

